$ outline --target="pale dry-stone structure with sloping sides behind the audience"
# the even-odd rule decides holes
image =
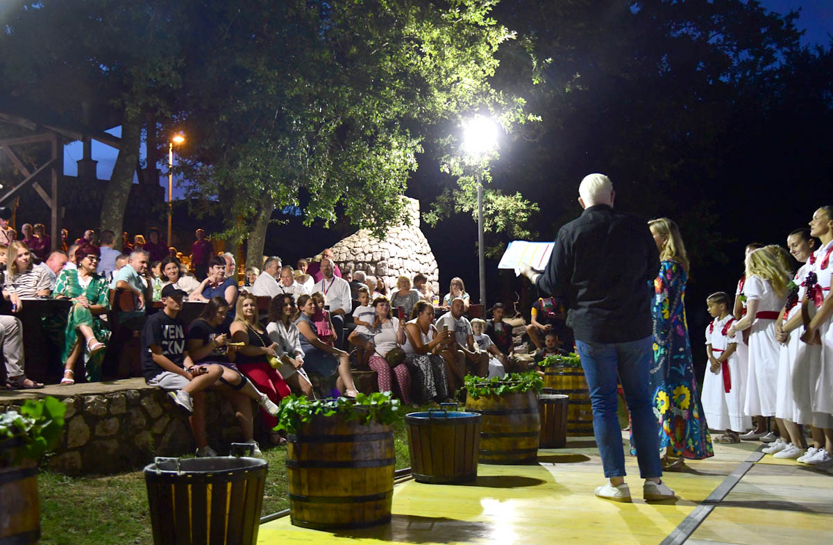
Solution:
[[[396,287],[399,276],[413,278],[416,273],[422,273],[428,278],[431,291],[439,293],[440,271],[420,229],[419,201],[403,198],[407,201],[411,225],[389,228],[382,240],[373,237],[367,229],[360,229],[336,243],[332,247],[333,256],[342,270],[364,271],[382,279],[389,291]]]

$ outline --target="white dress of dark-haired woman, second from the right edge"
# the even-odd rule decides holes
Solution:
[[[787,298],[784,323],[801,314],[801,300],[806,288],[801,284],[810,272],[811,265],[806,263],[798,269],[793,283],[798,286],[798,293],[793,298]],[[776,418],[785,418],[796,424],[810,424],[812,422],[811,399],[816,388],[816,377],[809,380],[807,368],[810,360],[818,361],[821,350],[801,342],[804,328],[799,327],[790,332],[790,338],[781,345],[778,360],[778,380],[776,383]]]

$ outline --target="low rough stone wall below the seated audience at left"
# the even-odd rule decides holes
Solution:
[[[47,387],[50,395],[67,406],[64,433],[55,452],[47,458],[47,468],[68,475],[118,473],[142,468],[156,456],[194,453],[196,445],[187,413],[175,407],[166,393],[147,386],[141,378],[114,381],[111,385],[116,388],[75,395],[66,394],[87,385]],[[57,388],[65,394],[56,393]],[[22,404],[23,399],[0,398],[0,412]],[[258,430],[262,427],[255,414]],[[243,440],[231,404],[218,393],[207,393],[206,429],[208,444],[221,454],[228,452],[231,443]]]

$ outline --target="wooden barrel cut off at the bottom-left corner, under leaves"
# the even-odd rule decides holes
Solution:
[[[37,500],[37,466],[0,469],[0,543],[37,543],[41,509]]]

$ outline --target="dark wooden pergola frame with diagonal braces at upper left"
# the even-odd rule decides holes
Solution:
[[[52,125],[44,125],[27,119],[18,117],[12,113],[0,112],[0,122],[15,125],[26,129],[31,134],[25,136],[18,136],[13,138],[0,138],[0,150],[12,161],[12,164],[17,171],[23,176],[22,181],[18,182],[14,187],[8,189],[5,193],[0,192],[0,205],[7,203],[9,199],[14,197],[20,190],[31,185],[35,192],[43,199],[51,211],[51,230],[52,248],[55,250],[57,244],[60,243],[60,230],[58,227],[58,214],[60,205],[58,203],[58,178],[63,173],[63,145],[65,143],[76,140],[82,141],[84,144],[84,158],[90,158],[90,148],[92,140],[107,144],[112,148],[121,147],[121,139],[104,132],[88,132],[79,133],[72,129],[55,127]],[[39,144],[49,143],[51,146],[51,157],[46,163],[43,163],[34,170],[29,170],[23,164],[18,153],[14,148]],[[45,173],[49,172],[49,191],[43,188],[38,180],[45,177]]]

